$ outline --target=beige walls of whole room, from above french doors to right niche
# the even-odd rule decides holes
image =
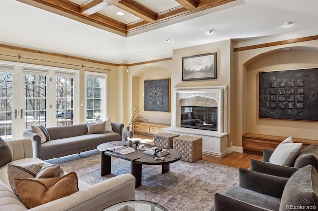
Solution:
[[[298,35],[298,34],[297,34]],[[302,37],[302,35],[298,35]],[[276,41],[273,37],[272,41]],[[249,41],[258,44],[260,39]],[[268,42],[271,42],[269,40]],[[246,132],[277,136],[292,136],[318,140],[318,122],[291,121],[258,118],[258,72],[289,70],[318,67],[318,40],[284,44],[245,51],[233,52],[233,45],[239,46],[238,41],[224,40],[205,45],[192,46],[173,50],[173,60],[149,62],[127,67],[109,66],[56,56],[30,53],[25,51],[0,48],[1,54],[21,55],[41,60],[60,63],[85,65],[96,68],[112,69],[107,72],[91,68],[74,67],[66,64],[18,59],[2,56],[0,60],[32,63],[47,66],[57,66],[80,71],[80,84],[84,84],[84,71],[103,72],[108,74],[108,116],[113,122],[123,122],[128,126],[135,107],[144,105],[144,80],[171,78],[171,112],[141,111],[140,116],[151,122],[172,123],[174,115],[175,87],[192,86],[228,86],[227,132],[229,133],[228,147],[233,141],[234,146],[242,147],[242,135]],[[283,51],[285,47],[291,50]],[[200,81],[182,81],[182,57],[204,53],[217,53],[217,79]],[[84,102],[84,86],[80,88],[80,102]],[[80,107],[80,122],[85,122],[83,107]]]

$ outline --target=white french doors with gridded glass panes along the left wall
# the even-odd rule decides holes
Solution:
[[[26,65],[26,64],[24,64]],[[22,138],[32,125],[60,126],[79,121],[77,74],[0,63],[0,136]],[[79,86],[78,86],[79,87]]]

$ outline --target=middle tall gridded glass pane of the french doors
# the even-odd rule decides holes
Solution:
[[[47,124],[47,76],[24,75],[24,130]],[[23,110],[21,110],[23,112]],[[22,116],[22,115],[21,115]]]

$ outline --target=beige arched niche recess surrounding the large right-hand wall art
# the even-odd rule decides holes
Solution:
[[[246,132],[315,139],[318,122],[258,118],[259,72],[318,67],[318,48],[294,46],[261,53],[243,64],[243,120]]]

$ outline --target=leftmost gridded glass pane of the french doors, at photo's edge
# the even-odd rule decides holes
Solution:
[[[13,73],[0,70],[0,136],[12,139]]]

